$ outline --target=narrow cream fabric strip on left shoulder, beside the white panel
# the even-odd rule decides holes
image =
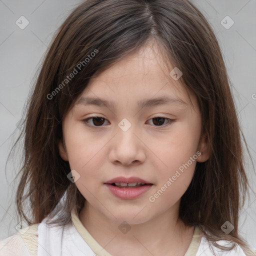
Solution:
[[[33,224],[19,230],[19,233],[31,256],[37,256],[38,249],[38,224]]]

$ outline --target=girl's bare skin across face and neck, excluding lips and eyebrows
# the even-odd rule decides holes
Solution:
[[[144,45],[90,79],[79,95],[113,100],[115,108],[74,105],[63,119],[60,156],[80,177],[75,185],[86,198],[79,219],[96,241],[112,255],[184,255],[194,231],[178,218],[180,197],[187,189],[196,160],[209,157],[206,139],[200,140],[201,116],[195,95],[189,101],[184,85],[170,76],[158,48]],[[186,104],[164,104],[137,108],[137,101],[156,96],[180,98]],[[83,119],[100,116],[99,121]],[[152,118],[175,119],[160,125]],[[131,127],[123,131],[118,123],[126,118]],[[156,124],[155,124],[156,123]],[[154,202],[149,196],[175,174],[196,151],[201,155],[184,169]],[[74,173],[74,171],[72,171]],[[149,181],[151,188],[135,199],[120,199],[104,182],[117,176],[136,176]],[[131,229],[122,233],[126,221]],[[106,245],[107,244],[107,245]]]

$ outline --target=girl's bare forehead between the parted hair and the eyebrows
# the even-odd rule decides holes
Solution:
[[[185,86],[169,75],[172,69],[171,63],[163,61],[158,47],[143,46],[92,77],[76,104],[93,102],[114,107],[118,101],[136,100],[143,107],[158,99],[158,102],[189,105]]]

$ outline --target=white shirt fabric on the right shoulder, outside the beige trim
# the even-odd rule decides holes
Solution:
[[[219,240],[217,244],[220,246],[231,247],[231,243],[227,240]],[[214,255],[214,253],[215,255]],[[235,243],[235,246],[231,250],[222,250],[214,245],[212,245],[205,236],[201,237],[201,242],[199,244],[196,256],[256,256],[256,252],[250,251],[245,252],[241,246]]]

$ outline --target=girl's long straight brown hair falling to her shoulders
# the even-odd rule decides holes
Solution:
[[[58,224],[70,221],[72,208],[82,208],[85,198],[67,178],[69,163],[59,155],[62,120],[93,75],[149,40],[157,42],[162,56],[182,70],[182,84],[198,101],[201,138],[206,134],[210,145],[208,160],[196,163],[181,197],[179,218],[187,225],[198,225],[219,248],[231,249],[237,243],[249,250],[238,233],[239,210],[249,185],[241,144],[244,135],[216,36],[188,0],[85,0],[72,10],[44,56],[17,139],[24,138],[16,192],[18,215],[29,225],[41,222],[53,214],[63,195],[60,212],[64,217]],[[88,54],[93,57],[84,61]],[[66,80],[74,70],[73,78]],[[26,203],[32,219],[24,212]],[[227,220],[234,228],[225,234],[220,227]],[[232,246],[218,245],[221,239]]]

